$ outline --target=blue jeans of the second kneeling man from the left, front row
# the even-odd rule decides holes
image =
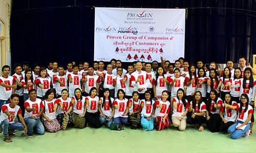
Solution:
[[[33,129],[35,128],[35,132],[39,135],[45,134],[45,127],[42,124],[40,118],[32,119],[32,118],[24,118],[27,126],[28,126],[28,134],[33,133]]]

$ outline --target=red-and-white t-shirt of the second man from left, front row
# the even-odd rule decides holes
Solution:
[[[24,118],[30,118],[31,116],[35,116],[40,112],[40,109],[41,108],[44,108],[44,105],[42,104],[42,100],[39,99],[39,98],[36,98],[35,101],[32,101],[30,98],[25,101],[24,103],[24,106],[25,106],[25,114],[24,114]],[[31,111],[31,112],[28,112],[26,110],[26,108],[29,107],[30,109],[32,108],[36,108],[35,111]]]

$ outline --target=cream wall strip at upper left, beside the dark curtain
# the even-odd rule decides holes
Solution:
[[[11,0],[0,0],[0,19],[5,24],[5,38],[4,38],[4,50],[6,57],[0,55],[0,64],[11,66],[11,49],[10,49],[10,15],[11,15]],[[3,48],[3,47],[2,47]],[[2,61],[3,60],[3,61]],[[2,69],[1,65],[1,68]],[[1,71],[1,70],[0,70]]]

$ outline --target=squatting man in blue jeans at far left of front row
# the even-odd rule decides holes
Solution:
[[[1,108],[0,127],[2,127],[4,131],[5,142],[12,142],[10,137],[16,137],[16,135],[13,134],[14,130],[24,131],[25,134],[28,132],[28,128],[22,117],[22,110],[20,110],[18,102],[19,95],[12,94],[10,97],[10,103],[3,105]],[[16,116],[18,116],[21,123],[14,121]]]

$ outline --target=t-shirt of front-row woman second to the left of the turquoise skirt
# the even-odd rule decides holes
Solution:
[[[126,98],[124,98],[122,100],[115,99],[113,105],[114,106],[118,105],[118,108],[115,109],[115,113],[114,113],[114,118],[116,118],[116,117],[120,117],[120,116],[124,115],[125,110],[129,105],[129,101]]]

